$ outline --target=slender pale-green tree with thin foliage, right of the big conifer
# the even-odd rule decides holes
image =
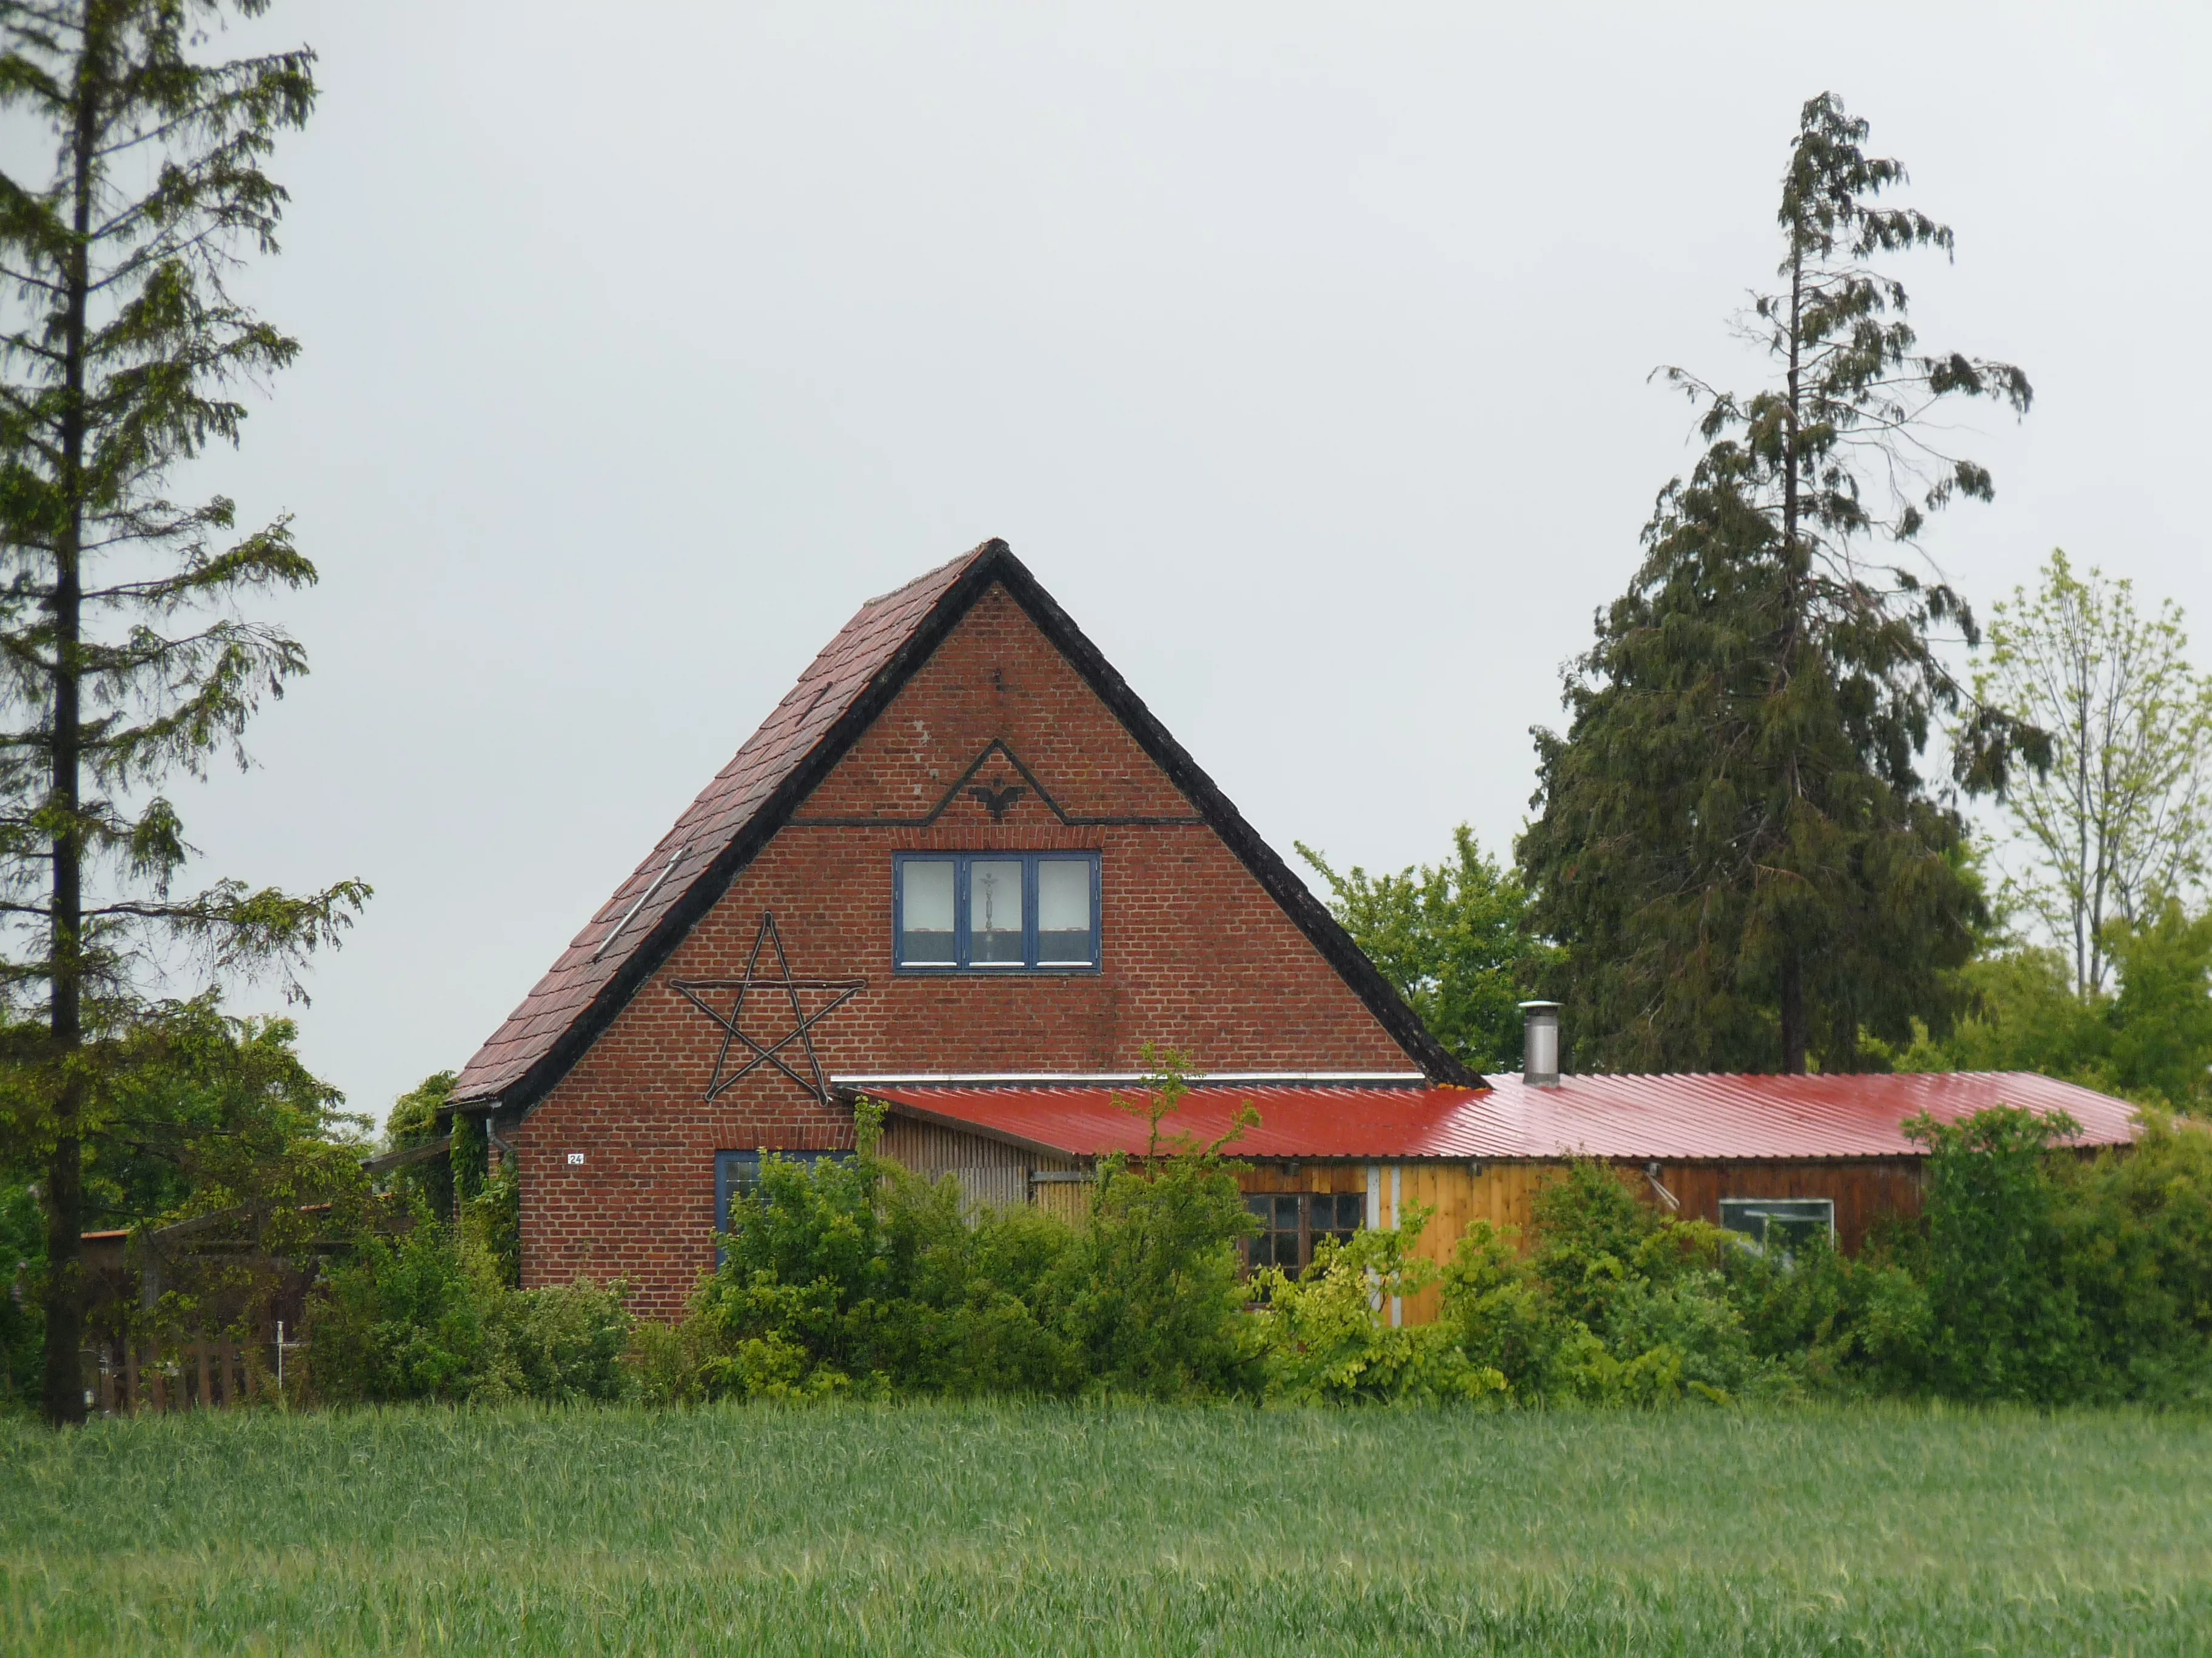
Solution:
[[[2051,769],[2015,778],[2006,807],[2031,853],[2024,895],[2088,997],[2112,966],[2106,922],[2203,884],[2212,681],[2188,663],[2179,606],[2146,617],[2130,581],[2081,579],[2055,550],[2033,597],[1995,608],[1975,694],[2051,732]]]

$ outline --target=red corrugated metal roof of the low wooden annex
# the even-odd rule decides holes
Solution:
[[[900,1083],[869,1096],[1026,1145],[1104,1156],[1141,1152],[1146,1123],[1108,1085],[942,1088]],[[1958,1121],[1989,1105],[2066,1112],[2079,1145],[2126,1145],[2135,1108],[2031,1072],[1902,1077],[1564,1077],[1559,1088],[1199,1085],[1166,1132],[1212,1141],[1250,1101],[1259,1127],[1230,1145],[1248,1158],[1840,1158],[1918,1156],[1905,1123]]]

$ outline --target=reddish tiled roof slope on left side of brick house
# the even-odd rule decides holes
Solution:
[[[1002,542],[984,542],[951,564],[869,599],[799,676],[721,774],[677,818],[675,829],[599,906],[507,1024],[476,1050],[453,1083],[456,1103],[502,1094],[553,1054],[595,999],[615,990],[661,920],[708,880],[717,858],[752,825],[867,683],[905,646],[962,570]],[[635,911],[635,913],[633,913]]]

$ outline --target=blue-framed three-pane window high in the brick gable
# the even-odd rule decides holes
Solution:
[[[1097,973],[1095,851],[902,851],[891,860],[898,973]]]

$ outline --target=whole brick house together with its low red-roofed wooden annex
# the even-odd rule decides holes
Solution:
[[[2064,1105],[2084,1143],[2132,1134],[2044,1079],[1559,1079],[1535,1041],[1531,1074],[1471,1074],[1004,542],[860,608],[453,1108],[515,1158],[526,1287],[624,1278],[670,1318],[761,1152],[849,1147],[860,1092],[909,1167],[1073,1207],[1139,1132],[1113,1101],[1148,1041],[1208,1072],[1192,1127],[1259,1108],[1241,1180],[1283,1265],[1409,1203],[1442,1253],[1475,1216],[1526,1220],[1571,1154],[1856,1242],[1916,1200],[1911,1110],[2011,1099]]]

